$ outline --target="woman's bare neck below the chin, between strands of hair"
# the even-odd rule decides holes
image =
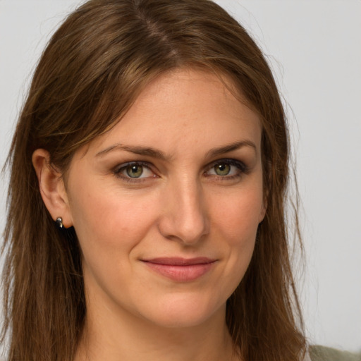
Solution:
[[[75,361],[235,361],[225,310],[202,324],[186,328],[162,327],[132,314],[109,312],[87,320]],[[102,315],[104,316],[104,314]]]

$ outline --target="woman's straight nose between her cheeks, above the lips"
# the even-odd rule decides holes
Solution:
[[[159,231],[167,239],[195,245],[209,233],[209,216],[202,185],[183,180],[169,184],[164,193],[164,213]]]

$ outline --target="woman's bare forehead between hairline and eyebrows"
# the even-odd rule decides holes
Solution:
[[[195,69],[177,69],[149,82],[133,106],[89,149],[118,142],[133,145],[195,147],[195,144],[260,141],[259,117],[226,76]],[[184,152],[184,150],[183,150]]]

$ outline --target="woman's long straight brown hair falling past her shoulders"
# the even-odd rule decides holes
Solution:
[[[54,225],[32,152],[66,171],[74,152],[121,119],[160,73],[195,67],[231,78],[262,121],[267,214],[226,321],[245,360],[295,361],[305,350],[288,250],[288,132],[267,61],[209,0],[90,0],[71,13],[42,54],[13,137],[5,230],[8,360],[73,360],[86,305],[78,239]]]

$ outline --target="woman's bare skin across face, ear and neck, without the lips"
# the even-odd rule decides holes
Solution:
[[[43,200],[75,227],[82,250],[77,360],[239,360],[226,300],[265,213],[261,130],[218,77],[181,69],[147,85],[109,133],[75,153],[66,185],[47,151],[35,151]],[[212,265],[175,281],[148,267],[155,257]]]

